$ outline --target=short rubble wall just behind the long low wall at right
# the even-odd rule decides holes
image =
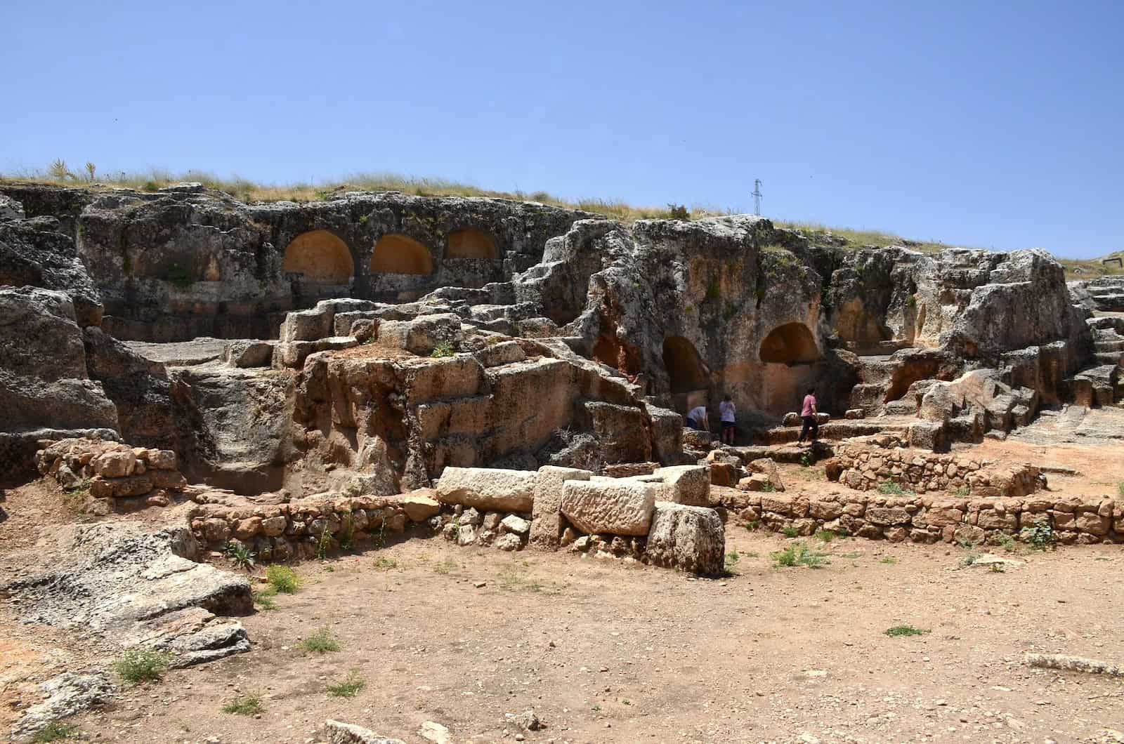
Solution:
[[[1045,487],[1045,477],[1027,463],[992,460],[924,450],[872,447],[868,443],[843,444],[826,463],[827,478],[860,491],[895,483],[919,493],[962,490],[966,496],[1021,497]]]

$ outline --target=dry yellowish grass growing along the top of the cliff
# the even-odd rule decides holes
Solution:
[[[699,219],[734,214],[729,209],[692,206],[689,209],[676,203],[665,207],[635,207],[619,199],[561,199],[545,191],[496,191],[447,179],[401,175],[398,173],[354,173],[341,180],[319,183],[259,183],[241,176],[219,178],[207,171],[189,170],[176,173],[166,169],[148,169],[138,172],[99,172],[97,165],[87,162],[74,170],[63,160],[56,160],[45,170],[16,173],[0,173],[0,181],[20,180],[57,185],[87,185],[97,188],[129,188],[138,191],[156,191],[171,183],[198,181],[210,189],[225,191],[243,201],[320,201],[345,191],[400,191],[419,197],[491,197],[516,201],[536,201],[565,209],[582,209],[605,215],[611,219],[631,223],[637,219]],[[940,241],[912,241],[895,233],[882,230],[831,227],[822,223],[790,221],[774,219],[778,227],[797,229],[809,237],[842,238],[846,247],[904,245],[924,253],[937,253],[952,246]],[[975,246],[967,246],[975,247]],[[1115,255],[1115,254],[1114,254]],[[1106,266],[1099,258],[1061,260],[1068,279],[1091,279],[1100,275],[1122,274],[1124,269]]]

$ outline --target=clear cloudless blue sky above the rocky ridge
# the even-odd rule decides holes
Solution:
[[[1124,248],[1124,1],[6,0],[0,172],[363,171]]]

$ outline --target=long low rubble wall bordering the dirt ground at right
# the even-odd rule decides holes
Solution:
[[[970,541],[998,543],[999,535],[1017,535],[1048,525],[1057,542],[1124,543],[1124,499],[1055,497],[959,498],[944,496],[881,496],[870,492],[807,496],[754,493],[713,488],[710,503],[724,518],[799,535],[832,529],[846,535],[936,543]]]

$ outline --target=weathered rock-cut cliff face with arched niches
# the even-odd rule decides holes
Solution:
[[[8,471],[44,433],[98,430],[238,490],[384,493],[451,464],[673,464],[677,414],[724,394],[750,434],[815,387],[942,446],[1120,380],[1116,326],[1040,251],[401,193],[0,194]]]

